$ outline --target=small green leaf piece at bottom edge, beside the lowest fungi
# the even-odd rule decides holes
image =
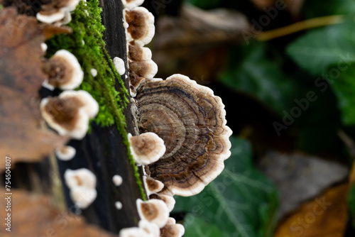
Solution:
[[[195,217],[192,214],[187,214],[185,216],[185,236],[228,237],[216,225],[207,224],[204,219],[201,217]]]

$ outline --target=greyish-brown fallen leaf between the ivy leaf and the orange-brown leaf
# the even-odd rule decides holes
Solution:
[[[259,160],[258,167],[278,187],[280,219],[346,179],[349,173],[346,165],[303,153],[268,152]]]

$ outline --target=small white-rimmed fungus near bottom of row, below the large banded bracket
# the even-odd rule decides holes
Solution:
[[[156,224],[159,228],[168,222],[169,210],[165,202],[158,199],[143,202],[141,199],[137,199],[136,204],[142,220]]]

